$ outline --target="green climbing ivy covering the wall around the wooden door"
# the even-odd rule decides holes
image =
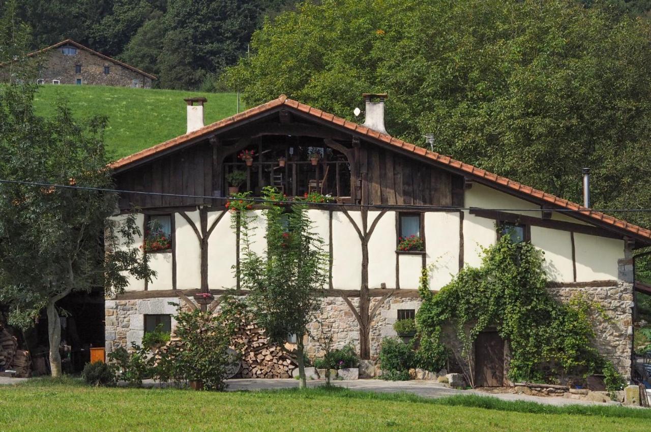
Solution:
[[[490,327],[508,344],[514,382],[551,382],[602,368],[590,323],[598,305],[583,297],[567,304],[551,297],[543,265],[540,250],[503,236],[484,249],[480,267],[465,267],[436,295],[424,269],[416,316],[421,364],[437,370],[447,352],[472,384],[473,342]]]

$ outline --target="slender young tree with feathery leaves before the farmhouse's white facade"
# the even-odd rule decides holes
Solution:
[[[266,253],[253,250],[251,224],[254,215],[247,202],[230,204],[233,223],[242,234],[240,286],[250,290],[247,301],[256,322],[264,327],[271,342],[284,348],[287,336],[296,334],[296,349],[290,354],[298,362],[300,386],[306,386],[303,336],[321,308],[327,283],[327,254],[324,241],[314,233],[304,204],[285,206],[283,195],[272,187],[263,191],[266,221]],[[245,197],[245,196],[244,196]]]

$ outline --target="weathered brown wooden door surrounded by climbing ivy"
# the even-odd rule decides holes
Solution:
[[[497,332],[482,332],[475,341],[475,386],[504,385],[504,341]]]

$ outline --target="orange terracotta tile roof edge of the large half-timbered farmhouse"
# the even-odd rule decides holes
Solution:
[[[415,146],[414,144],[410,144],[409,142],[405,142],[400,139],[391,137],[390,135],[379,133],[378,131],[374,131],[360,124],[349,122],[344,118],[340,118],[331,115],[329,113],[324,113],[324,111],[321,111],[316,108],[312,108],[309,105],[305,105],[303,103],[299,103],[298,101],[288,99],[287,96],[285,96],[284,94],[281,94],[281,96],[277,99],[268,101],[267,103],[263,103],[262,105],[258,105],[257,107],[253,107],[251,109],[247,109],[246,111],[243,111],[242,113],[236,114],[234,116],[224,118],[223,120],[219,120],[218,122],[212,123],[208,126],[204,126],[204,128],[198,129],[191,133],[187,133],[186,135],[181,135],[180,137],[176,137],[169,141],[162,142],[161,144],[158,144],[156,146],[146,148],[141,152],[137,152],[127,157],[123,157],[122,159],[118,159],[117,161],[111,163],[111,165],[109,166],[113,169],[120,169],[120,170],[126,169],[128,165],[136,161],[139,161],[140,159],[143,159],[150,155],[157,154],[159,152],[163,152],[164,150],[168,150],[170,148],[173,148],[174,146],[183,144],[184,142],[191,141],[192,139],[201,137],[202,135],[206,135],[208,133],[214,133],[215,131],[219,131],[219,129],[224,128],[225,126],[229,126],[240,120],[244,120],[246,118],[250,118],[252,116],[258,115],[260,113],[264,113],[265,111],[269,111],[270,109],[279,107],[281,105],[285,105],[287,107],[297,109],[298,111],[302,111],[303,113],[307,113],[309,115],[321,118],[322,120],[326,120],[327,122],[331,122],[343,128],[350,129],[351,131],[355,131],[355,133],[357,133],[358,135],[365,135],[367,137],[376,139],[378,141],[387,142],[388,144],[401,148],[406,152],[412,152],[421,157],[429,159],[430,161],[436,161],[441,165],[446,165],[447,167],[451,167],[457,170],[458,172],[460,172],[460,174],[469,175],[475,178],[480,178],[482,180],[486,180],[488,183],[496,183],[498,185],[502,185],[507,189],[511,189],[514,192],[521,193],[523,195],[533,196],[537,200],[541,200],[547,204],[551,204],[553,206],[557,206],[562,209],[575,210],[577,211],[577,213],[580,213],[585,217],[589,217],[593,221],[596,221],[602,225],[620,228],[621,230],[625,230],[630,234],[633,234],[634,236],[643,237],[646,240],[651,239],[651,230],[642,228],[641,226],[637,226],[635,224],[631,224],[626,221],[616,219],[615,217],[605,215],[600,211],[594,211],[592,209],[585,208],[583,206],[580,206],[579,204],[568,201],[564,198],[559,198],[558,196],[554,196],[549,193],[545,193],[543,191],[538,191],[537,189],[534,189],[531,186],[514,182],[513,180],[510,180],[506,177],[502,177],[497,174],[493,174],[492,172],[488,172],[486,170],[474,167],[473,165],[469,165],[467,163],[457,161],[455,159],[452,159],[449,156],[441,155],[436,152],[430,152],[430,150],[426,150],[425,148]]]

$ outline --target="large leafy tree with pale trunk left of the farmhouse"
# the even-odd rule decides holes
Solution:
[[[32,81],[33,82],[33,81]],[[45,309],[52,376],[61,375],[62,313],[57,302],[79,291],[124,291],[129,277],[150,278],[133,215],[107,219],[112,189],[102,142],[104,120],[77,122],[65,103],[57,115],[33,112],[36,85],[0,88],[0,303],[12,325],[30,327]],[[106,250],[104,248],[106,246]],[[64,312],[63,312],[64,313]]]

